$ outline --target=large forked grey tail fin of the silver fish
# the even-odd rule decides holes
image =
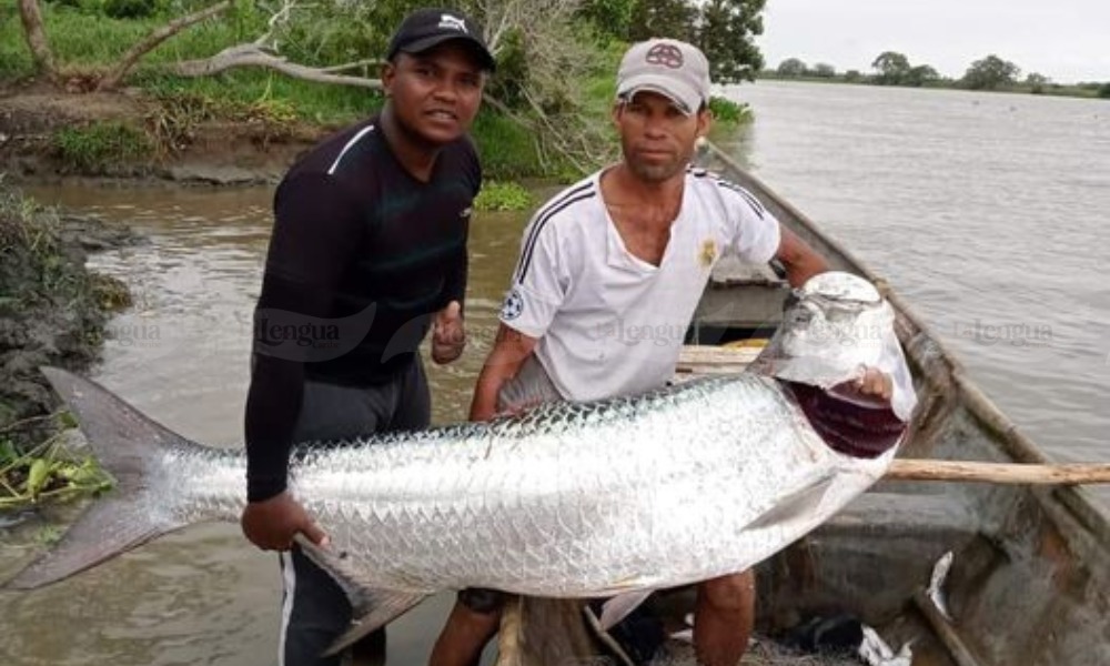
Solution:
[[[57,367],[40,370],[77,415],[89,447],[117,483],[107,497],[88,507],[57,545],[7,583],[11,589],[56,583],[183,527],[170,512],[150,505],[151,463],[160,451],[201,447],[145,417],[95,382]],[[160,487],[159,492],[171,488]]]

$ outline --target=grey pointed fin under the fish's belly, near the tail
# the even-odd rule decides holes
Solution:
[[[361,581],[345,554],[321,548],[302,535],[297,535],[295,541],[305,556],[327,572],[351,602],[351,628],[327,646],[324,656],[335,655],[354,645],[363,636],[413,609],[431,594],[373,587]]]

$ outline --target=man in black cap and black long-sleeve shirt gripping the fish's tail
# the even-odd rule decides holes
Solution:
[[[448,363],[465,343],[466,236],[482,184],[466,131],[495,61],[478,27],[446,9],[410,14],[386,60],[381,113],[314,148],[274,195],[246,401],[242,527],[259,547],[282,552],[283,666],[337,665],[339,656],[320,655],[352,619],[340,587],[293,544],[299,533],[316,544],[327,536],[294,498],[291,445],[425,427],[418,346],[432,329],[432,359]],[[323,331],[327,344],[273,334],[289,325]],[[384,633],[352,652],[356,660],[380,655]]]

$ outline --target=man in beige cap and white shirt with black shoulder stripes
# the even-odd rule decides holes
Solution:
[[[622,160],[533,216],[472,420],[538,401],[664,385],[724,253],[756,263],[778,259],[796,286],[826,270],[755,196],[690,168],[695,143],[709,129],[709,63],[696,47],[653,39],[625,53],[613,108]],[[474,663],[496,630],[498,599],[486,591],[462,593],[433,663]],[[696,604],[698,662],[739,663],[755,612],[751,573],[698,584]]]

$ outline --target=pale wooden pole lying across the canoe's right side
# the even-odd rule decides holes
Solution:
[[[982,481],[1038,485],[1110,483],[1110,464],[1033,465],[896,458],[884,478],[897,481]]]

